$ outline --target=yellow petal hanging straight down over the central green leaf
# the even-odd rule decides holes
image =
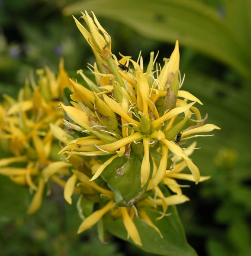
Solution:
[[[150,138],[143,139],[144,157],[143,157],[142,165],[140,169],[140,180],[141,180],[142,188],[145,186],[150,175],[150,160],[149,160],[150,144],[149,142],[150,142]]]

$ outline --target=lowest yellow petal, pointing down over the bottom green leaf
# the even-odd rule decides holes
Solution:
[[[126,207],[119,207],[122,212],[122,217],[123,217],[123,223],[125,225],[125,229],[127,230],[128,238],[131,237],[132,241],[139,245],[142,246],[141,239],[139,237],[138,230],[133,223],[132,219],[130,218],[127,208]]]

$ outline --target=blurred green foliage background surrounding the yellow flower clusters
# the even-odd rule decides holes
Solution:
[[[249,256],[251,252],[251,1],[250,0],[0,0],[0,97],[16,96],[30,70],[59,58],[70,75],[93,55],[70,14],[93,10],[113,39],[113,53],[136,59],[142,50],[169,57],[180,41],[183,89],[204,105],[208,123],[222,128],[198,139],[193,161],[212,175],[183,193],[178,206],[187,240],[199,255]],[[63,14],[64,13],[64,14]],[[186,183],[183,183],[186,184]],[[187,183],[188,184],[188,183]],[[93,228],[76,234],[80,219],[60,188],[42,209],[25,216],[29,191],[0,177],[0,254],[4,256],[150,255]]]

